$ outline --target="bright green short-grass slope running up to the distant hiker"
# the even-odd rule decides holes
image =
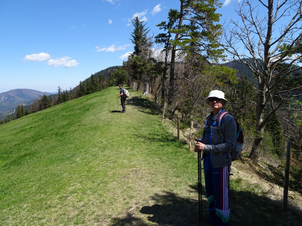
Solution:
[[[196,155],[140,93],[130,91],[118,113],[118,93],[109,87],[0,126],[0,225],[198,224]],[[293,225],[244,178],[231,189],[233,225]]]

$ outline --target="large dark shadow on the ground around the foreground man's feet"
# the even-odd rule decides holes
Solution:
[[[142,219],[162,226],[196,226],[198,225],[198,187],[191,185],[189,192],[196,193],[195,199],[177,196],[175,193],[164,192],[154,194],[151,198],[156,203],[152,206],[143,206],[138,212],[129,212],[121,218],[114,218],[113,224],[118,225],[150,225]],[[207,201],[203,189],[203,213],[207,214]],[[272,200],[265,196],[256,195],[250,191],[231,190],[231,217],[232,226],[278,226],[300,225],[301,210],[289,205],[288,212],[281,210],[282,201]],[[207,226],[206,222],[203,225]]]

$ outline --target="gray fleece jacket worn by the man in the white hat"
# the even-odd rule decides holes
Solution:
[[[213,111],[209,117],[213,117]],[[215,121],[217,118],[218,115],[214,116],[212,120]],[[212,129],[211,144],[205,145],[203,153],[203,155],[206,153],[210,155],[213,168],[231,164],[230,151],[236,144],[236,121],[232,115],[225,115],[224,121],[221,123],[221,133],[216,128],[217,126],[214,126]],[[202,139],[204,139],[204,134]]]

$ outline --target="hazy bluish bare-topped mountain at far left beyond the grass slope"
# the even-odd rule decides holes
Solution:
[[[33,100],[50,93],[34,89],[12,89],[0,93],[0,119],[11,114],[19,104],[30,105]]]

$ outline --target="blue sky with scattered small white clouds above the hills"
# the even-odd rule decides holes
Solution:
[[[226,0],[219,12],[234,12]],[[130,20],[155,35],[178,0],[0,0],[0,93],[55,92],[114,65],[133,51]]]

